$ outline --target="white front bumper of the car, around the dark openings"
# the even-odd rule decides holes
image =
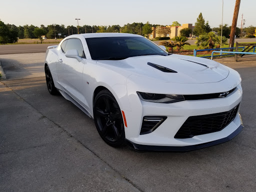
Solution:
[[[125,137],[135,149],[169,151],[193,150],[230,140],[243,127],[238,114],[239,108],[234,119],[222,130],[195,135],[191,138],[174,138],[174,135],[189,116],[225,112],[237,106],[242,99],[242,89],[240,84],[236,87],[235,91],[223,98],[185,100],[175,103],[142,101],[135,91],[131,91],[134,92],[129,94],[131,111],[124,111],[127,121]],[[141,135],[139,133],[143,116],[166,116],[167,118],[154,131]]]

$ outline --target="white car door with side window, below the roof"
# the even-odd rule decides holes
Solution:
[[[66,41],[66,42],[65,42]],[[61,44],[62,52],[58,57],[57,72],[60,85],[71,97],[81,105],[84,105],[84,95],[82,94],[82,71],[86,59],[80,39],[69,38]],[[64,44],[63,44],[64,43]],[[76,49],[82,61],[76,58],[65,56],[65,52],[70,49]]]

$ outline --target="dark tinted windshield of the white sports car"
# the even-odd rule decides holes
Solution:
[[[131,56],[168,54],[144,37],[114,36],[85,38],[93,60],[119,60]]]

